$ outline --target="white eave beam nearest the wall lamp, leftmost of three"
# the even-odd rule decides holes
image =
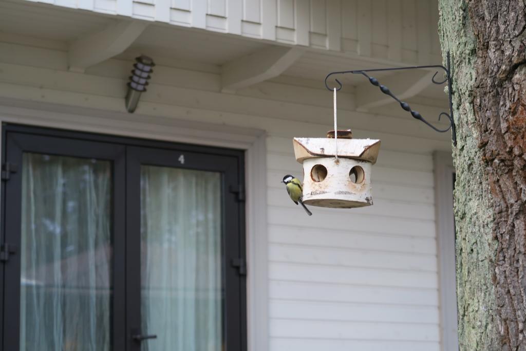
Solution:
[[[119,21],[104,31],[79,38],[69,46],[69,71],[84,72],[125,51],[143,33],[147,23]]]

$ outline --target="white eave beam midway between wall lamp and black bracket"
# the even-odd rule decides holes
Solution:
[[[266,81],[285,72],[303,53],[305,48],[273,46],[236,58],[222,67],[222,92]]]

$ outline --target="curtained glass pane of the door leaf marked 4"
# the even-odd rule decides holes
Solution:
[[[221,175],[141,167],[143,351],[223,347]]]

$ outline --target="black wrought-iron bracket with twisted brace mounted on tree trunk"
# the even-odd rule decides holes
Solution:
[[[376,68],[376,69],[357,69],[357,70],[354,70],[354,71],[339,71],[339,72],[331,72],[327,75],[327,77],[325,77],[325,86],[327,87],[327,89],[329,89],[330,91],[333,91],[334,88],[336,88],[337,91],[339,91],[343,85],[341,84],[340,81],[338,81],[337,78],[335,78],[335,81],[336,83],[338,84],[338,86],[335,86],[335,87],[329,87],[329,84],[328,84],[328,80],[329,80],[329,77],[332,76],[332,75],[337,75],[337,74],[346,74],[346,73],[352,73],[352,74],[361,74],[363,76],[366,76],[367,79],[369,79],[369,82],[372,84],[372,85],[375,85],[377,87],[380,88],[380,91],[383,93],[383,94],[386,94],[386,95],[389,95],[390,97],[392,97],[393,99],[395,99],[399,104],[400,106],[408,111],[409,113],[411,113],[411,116],[413,116],[413,118],[416,118],[418,119],[419,121],[422,121],[423,123],[427,124],[429,127],[431,127],[434,131],[437,131],[439,133],[444,133],[444,132],[447,132],[449,131],[449,129],[451,129],[451,139],[453,141],[453,145],[454,146],[457,146],[457,130],[456,130],[456,127],[455,127],[455,123],[453,121],[453,104],[451,102],[451,70],[450,70],[450,62],[449,62],[449,51],[447,53],[447,65],[448,67],[444,67],[442,65],[430,65],[430,66],[410,66],[410,67],[396,67],[396,68]],[[433,75],[433,77],[431,78],[431,82],[433,82],[434,84],[444,84],[444,83],[448,83],[448,98],[449,98],[449,114],[446,113],[446,112],[442,112],[440,113],[440,115],[438,116],[438,120],[440,121],[440,117],[442,117],[442,115],[448,117],[449,119],[449,126],[446,128],[446,129],[439,129],[435,126],[433,126],[432,124],[430,124],[428,121],[426,121],[426,119],[424,119],[422,117],[422,115],[420,115],[420,113],[418,113],[417,111],[413,111],[411,109],[411,106],[409,106],[408,103],[406,102],[403,102],[401,101],[398,97],[396,97],[395,94],[393,94],[389,88],[385,85],[381,85],[380,82],[378,82],[378,79],[376,79],[375,77],[371,77],[367,74],[367,72],[384,72],[384,71],[401,71],[402,69],[421,69],[421,68],[440,68],[440,69],[443,69],[444,70],[444,74],[446,75],[446,79],[444,79],[443,81],[441,82],[437,82],[434,80],[434,77],[437,76],[438,74],[438,71]]]

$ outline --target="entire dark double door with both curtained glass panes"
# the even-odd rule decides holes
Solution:
[[[3,349],[245,349],[242,156],[6,127]]]

